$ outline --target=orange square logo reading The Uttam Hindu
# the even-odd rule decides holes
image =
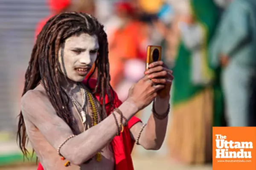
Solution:
[[[256,127],[212,127],[212,170],[256,170]]]

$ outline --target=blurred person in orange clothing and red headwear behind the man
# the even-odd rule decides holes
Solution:
[[[148,45],[147,27],[135,17],[134,7],[131,3],[117,2],[115,11],[119,17],[119,25],[109,37],[110,75],[111,85],[114,89],[124,79],[125,62],[131,59],[144,61]]]

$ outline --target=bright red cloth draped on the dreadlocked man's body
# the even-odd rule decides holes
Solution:
[[[84,84],[87,84],[87,80],[83,81]],[[96,79],[90,79],[89,81],[90,88],[94,88],[96,86]],[[119,107],[122,102],[118,99],[117,94],[114,92],[114,107]],[[96,98],[99,100],[99,94],[96,94]],[[108,103],[108,97],[105,97],[105,103]],[[102,101],[100,101],[102,102]],[[106,111],[111,114],[113,108],[110,105],[106,106]],[[134,170],[132,159],[131,159],[131,152],[134,147],[135,141],[131,139],[129,129],[135,125],[137,122],[141,122],[139,118],[133,116],[129,121],[128,125],[124,127],[124,131],[121,133],[120,136],[115,136],[112,145],[115,157],[115,170]],[[63,165],[64,166],[64,165]],[[42,165],[38,164],[38,170],[44,170]]]

